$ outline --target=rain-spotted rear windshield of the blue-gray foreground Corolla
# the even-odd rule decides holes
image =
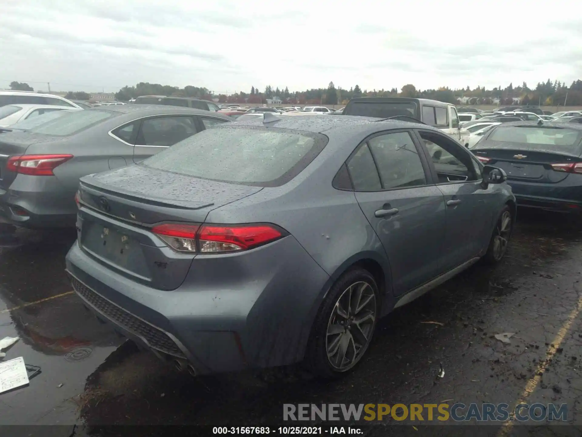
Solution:
[[[197,178],[279,186],[327,144],[321,134],[262,126],[217,126],[176,143],[141,165]]]

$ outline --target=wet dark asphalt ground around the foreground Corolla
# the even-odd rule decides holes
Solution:
[[[41,367],[29,386],[0,394],[2,425],[100,435],[113,424],[281,426],[284,403],[525,400],[567,403],[574,427],[565,435],[582,432],[577,217],[520,210],[505,260],[494,268],[478,263],[382,319],[364,360],[333,381],[313,379],[300,366],[196,379],[177,372],[86,311],[64,272],[73,241],[74,231],[0,225],[0,338],[20,337],[5,360],[22,356]],[[506,344],[499,333],[515,334]],[[368,434],[386,435],[382,425],[391,424],[450,434],[442,424],[392,420]],[[487,435],[499,431],[488,428]]]

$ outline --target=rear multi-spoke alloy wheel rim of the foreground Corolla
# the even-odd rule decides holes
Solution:
[[[347,371],[360,360],[370,343],[376,320],[376,295],[365,281],[342,292],[327,327],[325,348],[329,364]]]

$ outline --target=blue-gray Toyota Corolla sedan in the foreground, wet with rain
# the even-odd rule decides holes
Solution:
[[[502,258],[505,178],[427,125],[266,114],[81,178],[66,268],[98,317],[179,369],[337,375],[381,316]]]

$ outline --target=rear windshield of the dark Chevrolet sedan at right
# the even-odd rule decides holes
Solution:
[[[580,155],[578,129],[554,128],[551,126],[499,126],[487,138],[502,143],[521,143],[531,145],[531,149],[548,150],[553,146],[556,151]]]

